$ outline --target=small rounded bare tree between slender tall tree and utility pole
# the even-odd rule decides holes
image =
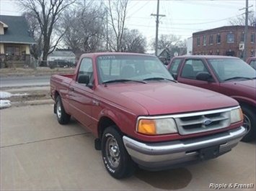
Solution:
[[[138,29],[125,29],[121,49],[123,52],[144,53],[146,49],[146,38],[143,37]]]

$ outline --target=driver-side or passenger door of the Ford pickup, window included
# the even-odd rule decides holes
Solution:
[[[93,83],[92,59],[84,57],[81,60],[76,80],[69,86],[69,103],[72,116],[79,120],[81,124],[89,127],[92,124],[92,97],[94,90],[90,84],[78,83],[79,75],[89,75],[89,83]]]

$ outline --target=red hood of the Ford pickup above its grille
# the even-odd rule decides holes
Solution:
[[[108,93],[112,91],[113,96],[108,99],[113,103],[119,102],[120,106],[128,104],[131,107],[133,103],[137,103],[144,107],[149,115],[238,106],[237,101],[226,95],[181,83],[125,83],[107,85],[102,88],[107,88]],[[123,98],[118,98],[118,96]]]

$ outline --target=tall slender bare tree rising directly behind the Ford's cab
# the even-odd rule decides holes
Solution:
[[[107,32],[110,37],[107,37],[107,44],[110,45],[110,50],[115,52],[121,51],[121,43],[123,40],[123,32],[125,29],[125,19],[127,16],[128,0],[108,0],[107,11],[110,16],[110,26],[112,32]]]

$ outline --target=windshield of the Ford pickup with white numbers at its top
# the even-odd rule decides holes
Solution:
[[[162,62],[148,55],[102,55],[97,57],[100,83],[152,82],[173,80]]]

